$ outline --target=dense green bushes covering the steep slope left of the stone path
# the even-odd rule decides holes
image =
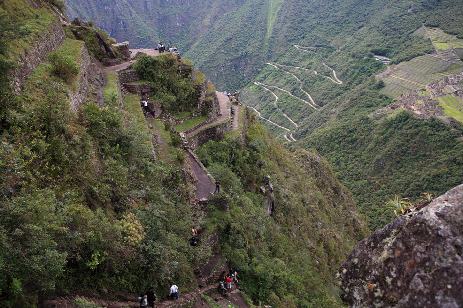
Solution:
[[[35,307],[52,289],[153,285],[163,296],[169,280],[186,285],[198,254],[188,244],[190,187],[169,172],[178,158],[153,160],[139,100],[127,96],[121,109],[113,75],[104,107],[85,101],[76,113],[74,85],[53,69],[39,65],[18,97],[2,89],[0,306]]]

